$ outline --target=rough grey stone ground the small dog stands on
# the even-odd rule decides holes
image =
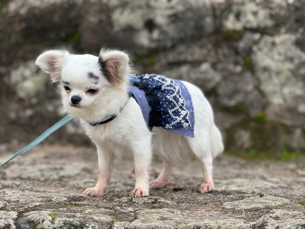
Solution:
[[[1,153],[3,162],[13,149]],[[154,158],[151,179],[162,163]],[[195,160],[178,162],[169,185],[131,198],[131,155],[116,158],[103,197],[93,147],[41,145],[0,168],[0,228],[305,228],[305,160],[214,161],[215,190],[200,194]]]

